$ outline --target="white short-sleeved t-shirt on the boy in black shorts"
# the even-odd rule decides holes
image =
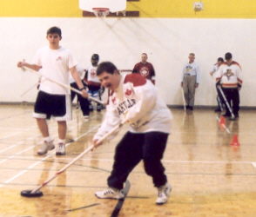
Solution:
[[[69,70],[77,65],[77,60],[69,49],[50,49],[47,46],[37,50],[33,64],[42,66],[42,76],[69,85]],[[40,84],[39,90],[52,95],[71,94],[70,89],[48,80]]]

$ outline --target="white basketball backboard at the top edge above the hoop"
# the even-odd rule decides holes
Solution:
[[[126,9],[126,0],[79,0],[79,8],[93,12],[93,8],[108,8],[111,13]]]

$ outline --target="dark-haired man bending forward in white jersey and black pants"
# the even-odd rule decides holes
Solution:
[[[123,198],[124,182],[131,170],[143,160],[146,174],[152,176],[154,186],[158,187],[156,203],[165,203],[172,187],[167,182],[161,159],[171,133],[170,109],[159,97],[152,82],[143,76],[120,75],[111,62],[101,62],[97,75],[104,88],[110,90],[110,95],[104,122],[94,135],[92,143],[95,147],[101,145],[96,144],[97,141],[124,119],[130,124],[130,128],[116,148],[113,168],[107,181],[109,188],[96,192],[96,196]],[[107,140],[114,136],[109,136]]]

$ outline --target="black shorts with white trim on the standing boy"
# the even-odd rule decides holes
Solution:
[[[59,121],[69,121],[71,116],[70,95],[51,95],[39,91],[33,117],[50,119],[51,116]]]

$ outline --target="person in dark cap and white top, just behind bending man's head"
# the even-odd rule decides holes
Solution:
[[[98,54],[94,54],[91,56],[91,64],[87,67],[85,70],[85,76],[84,81],[87,83],[88,86],[88,94],[93,97],[101,100],[101,93],[100,93],[100,87],[101,84],[98,80],[98,76],[96,75],[96,69],[98,67],[98,60],[99,56]],[[89,108],[91,111],[93,111],[93,105],[90,102]],[[100,112],[102,109],[101,104],[97,103],[97,111]]]

